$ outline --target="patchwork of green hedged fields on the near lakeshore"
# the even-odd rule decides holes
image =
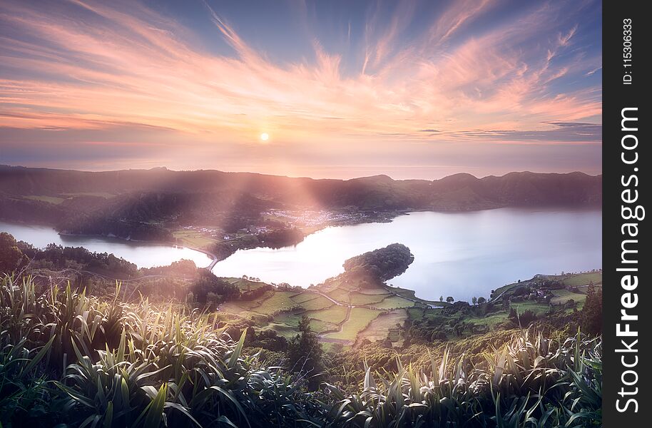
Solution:
[[[240,290],[252,291],[265,286],[263,282],[245,280],[243,278],[226,278],[229,282],[238,285]],[[578,275],[541,275],[532,280],[514,282],[502,287],[507,296],[518,287],[536,287],[535,280],[564,281],[569,287],[577,287],[578,292],[561,288],[549,290],[552,294],[550,303],[554,306],[564,305],[569,300],[576,302],[576,309],[581,310],[586,300],[587,284],[594,282],[601,284],[600,272],[589,272]],[[340,304],[336,304],[320,292]],[[501,292],[501,289],[498,289]],[[416,301],[415,301],[416,300]],[[441,305],[441,306],[439,306]],[[310,319],[312,331],[320,336],[325,343],[340,342],[350,344],[355,340],[366,338],[368,340],[384,340],[389,329],[396,325],[409,322],[424,323],[431,327],[440,325],[447,330],[450,340],[454,340],[450,322],[465,322],[468,325],[484,325],[493,330],[497,325],[506,322],[509,310],[494,307],[487,315],[476,310],[463,310],[457,312],[458,302],[428,302],[414,297],[412,290],[397,287],[356,287],[347,282],[342,285],[340,281],[330,282],[327,287],[318,286],[310,290],[282,290],[272,289],[265,292],[255,300],[237,300],[220,306],[220,311],[233,314],[237,317],[268,317],[266,323],[260,327],[263,330],[275,330],[284,337],[294,337],[302,316]],[[464,307],[462,305],[462,307]],[[472,306],[467,305],[469,309]],[[550,305],[544,301],[515,300],[509,303],[519,314],[526,310],[534,312],[536,317],[543,317],[551,310]],[[571,312],[572,308],[567,308]],[[462,315],[464,314],[464,315]],[[419,324],[420,325],[420,324]],[[472,334],[468,329],[459,337]]]

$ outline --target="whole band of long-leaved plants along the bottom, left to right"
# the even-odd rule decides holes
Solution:
[[[119,292],[119,290],[116,290]],[[268,367],[216,315],[0,285],[0,422],[86,427],[582,427],[600,423],[601,342],[519,332],[484,361],[362,367],[345,392],[305,365]],[[310,328],[304,341],[315,346]],[[312,337],[313,340],[310,340]],[[363,366],[365,363],[363,362]],[[317,365],[312,365],[316,367]],[[387,366],[389,367],[389,366]],[[329,370],[332,370],[330,367]]]

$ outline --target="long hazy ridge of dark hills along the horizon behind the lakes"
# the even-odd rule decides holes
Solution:
[[[386,175],[314,180],[217,170],[83,172],[0,165],[0,198],[216,194],[224,200],[244,198],[248,205],[277,208],[478,210],[503,206],[599,206],[601,187],[601,175],[584,173],[522,172],[485,178],[462,173],[432,181],[392,180]]]

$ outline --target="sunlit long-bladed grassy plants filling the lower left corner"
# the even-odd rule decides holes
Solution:
[[[172,306],[0,283],[0,426],[304,427],[301,381]],[[309,404],[317,409],[319,402]]]

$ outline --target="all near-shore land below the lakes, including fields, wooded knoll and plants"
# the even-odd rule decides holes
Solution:
[[[307,290],[0,244],[1,427],[600,424],[600,272],[469,305],[387,285],[399,244]]]

